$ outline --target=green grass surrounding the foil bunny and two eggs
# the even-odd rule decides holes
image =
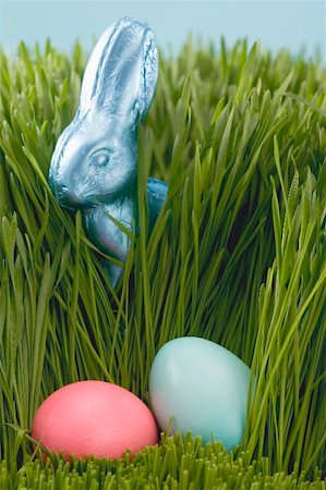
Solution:
[[[326,70],[245,41],[161,54],[140,134],[141,232],[113,291],[47,182],[85,63],[79,45],[0,51],[0,488],[325,488]],[[170,185],[150,236],[149,173]],[[252,366],[234,454],[165,436],[132,464],[34,461],[47,395],[102,379],[149,403],[155,353],[180,335]]]

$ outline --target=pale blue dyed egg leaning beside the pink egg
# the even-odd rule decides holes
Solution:
[[[244,431],[250,368],[205,339],[174,339],[157,353],[149,375],[152,408],[162,430],[192,432],[227,450]]]

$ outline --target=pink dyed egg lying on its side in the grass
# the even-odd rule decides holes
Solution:
[[[133,393],[105,381],[55,391],[36,412],[32,437],[47,450],[75,457],[121,457],[158,441],[152,412]]]

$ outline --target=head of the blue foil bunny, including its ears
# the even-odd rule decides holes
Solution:
[[[99,206],[135,185],[137,123],[150,106],[157,73],[149,28],[125,17],[102,34],[84,74],[77,112],[50,163],[50,185],[62,206]]]

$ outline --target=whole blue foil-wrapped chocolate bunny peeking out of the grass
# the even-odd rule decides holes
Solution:
[[[113,220],[130,232],[137,223],[137,124],[149,109],[157,75],[149,28],[125,17],[106,29],[87,63],[80,107],[50,163],[49,182],[59,204],[81,209],[89,238],[122,261],[130,241]],[[152,226],[167,192],[165,182],[148,179]],[[108,271],[116,284],[122,270],[108,265]]]

